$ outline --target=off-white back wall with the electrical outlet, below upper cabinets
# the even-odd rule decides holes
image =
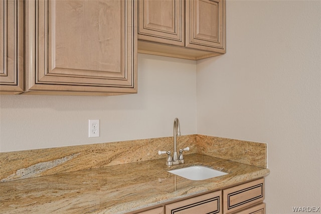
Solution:
[[[138,54],[138,93],[119,96],[0,95],[0,151],[196,133],[196,62]],[[88,138],[88,119],[100,137]]]

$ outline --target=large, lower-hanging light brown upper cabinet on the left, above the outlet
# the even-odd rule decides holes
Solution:
[[[2,1],[0,91],[136,93],[137,10],[134,0]]]

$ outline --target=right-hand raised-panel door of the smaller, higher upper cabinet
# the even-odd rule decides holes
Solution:
[[[186,1],[186,47],[225,53],[225,0]]]

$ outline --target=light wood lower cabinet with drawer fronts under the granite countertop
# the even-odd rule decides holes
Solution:
[[[140,214],[265,214],[264,178],[168,203]]]

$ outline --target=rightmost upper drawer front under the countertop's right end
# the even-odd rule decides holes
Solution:
[[[231,213],[264,200],[264,178],[223,190],[223,213]]]

